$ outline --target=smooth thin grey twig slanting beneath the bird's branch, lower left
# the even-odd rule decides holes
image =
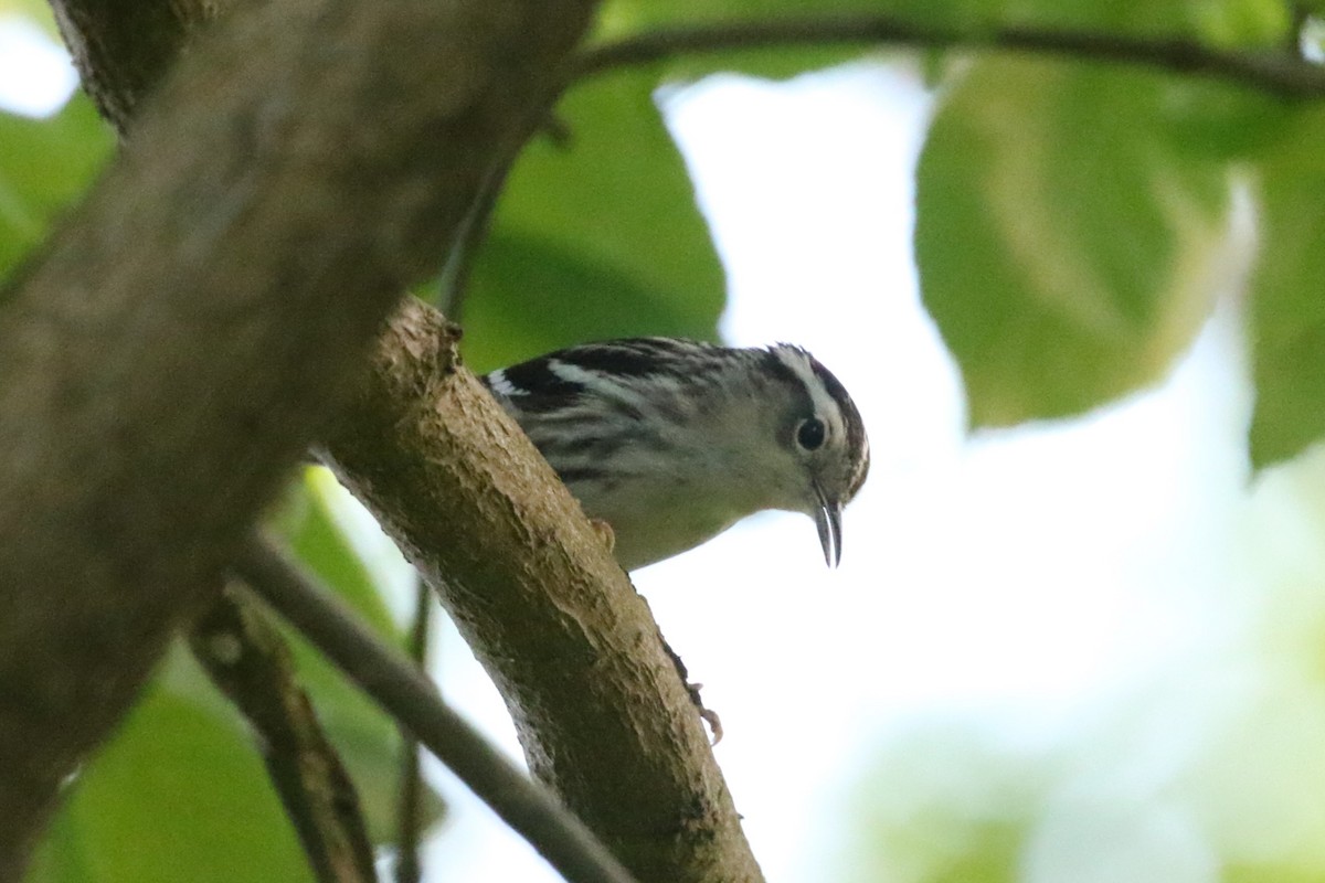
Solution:
[[[264,539],[236,572],[571,883],[632,883],[598,838],[452,711],[433,686]]]

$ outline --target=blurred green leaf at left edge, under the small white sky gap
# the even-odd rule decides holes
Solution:
[[[0,278],[87,189],[113,147],[82,94],[49,119],[0,113]]]

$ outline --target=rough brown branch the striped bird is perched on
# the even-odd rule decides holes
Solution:
[[[456,331],[409,302],[323,459],[439,593],[530,770],[641,880],[761,880],[644,601]]]

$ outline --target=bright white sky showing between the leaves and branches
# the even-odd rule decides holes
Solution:
[[[32,50],[32,34],[13,40],[0,26],[0,106],[58,106],[68,64]],[[914,78],[868,65],[786,85],[719,77],[664,105],[727,265],[729,339],[807,346],[852,391],[873,451],[839,571],[824,569],[810,520],[776,514],[636,575],[722,715],[718,760],[767,876],[849,875],[840,829],[861,767],[935,720],[982,744],[1077,759],[1032,829],[1023,878],[1035,883],[1215,880],[1212,830],[1252,854],[1318,831],[1301,822],[1316,812],[1308,797],[1293,815],[1280,792],[1257,804],[1247,790],[1239,802],[1255,812],[1218,825],[1199,801],[1157,797],[1214,751],[1204,729],[1228,716],[1216,694],[1261,683],[1227,653],[1261,616],[1239,588],[1249,392],[1231,311],[1151,393],[966,440],[959,380],[910,259],[929,113]],[[1257,541],[1271,545],[1301,530],[1265,523]],[[443,691],[518,756],[468,650],[453,631],[440,641]],[[1284,732],[1314,739],[1318,718],[1289,716]],[[1296,747],[1285,737],[1277,751]],[[558,879],[435,772],[456,804],[428,857],[435,879]],[[931,774],[943,773],[906,772]],[[961,789],[975,802],[996,790]]]

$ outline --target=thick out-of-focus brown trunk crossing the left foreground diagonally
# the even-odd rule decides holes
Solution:
[[[242,3],[0,298],[0,879],[347,400],[590,5]],[[114,12],[57,8],[66,30]]]

